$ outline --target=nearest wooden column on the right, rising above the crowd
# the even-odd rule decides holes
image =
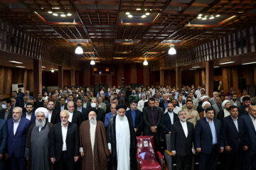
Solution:
[[[213,77],[213,61],[206,62],[206,94],[210,97],[213,96]]]

